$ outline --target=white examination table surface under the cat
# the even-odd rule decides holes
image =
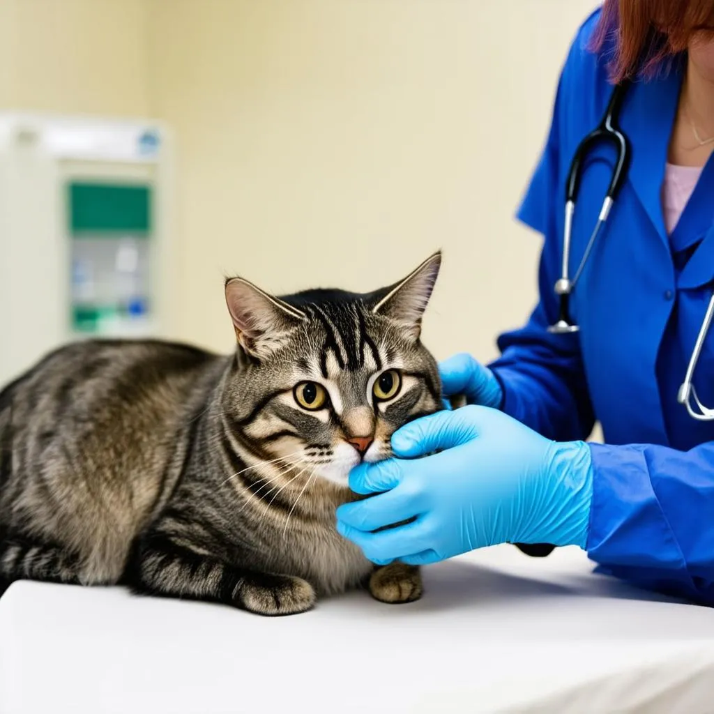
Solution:
[[[511,546],[261,618],[121,588],[19,582],[0,598],[0,714],[714,712],[714,610]]]

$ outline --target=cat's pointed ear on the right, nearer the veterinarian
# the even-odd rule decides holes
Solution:
[[[421,318],[431,298],[439,268],[441,251],[429,256],[415,271],[388,288],[372,312],[400,323],[408,336],[417,340],[421,334]]]

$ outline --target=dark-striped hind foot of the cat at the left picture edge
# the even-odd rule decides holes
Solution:
[[[79,585],[79,558],[55,543],[8,535],[0,542],[0,585],[13,580],[44,580]]]

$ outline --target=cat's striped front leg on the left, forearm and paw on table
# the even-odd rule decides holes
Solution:
[[[127,579],[136,593],[223,603],[258,615],[303,613],[316,600],[306,580],[236,568],[163,535],[140,544]]]

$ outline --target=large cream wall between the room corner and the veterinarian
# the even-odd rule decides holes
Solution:
[[[495,354],[540,241],[513,221],[591,0],[153,0],[176,130],[183,336],[231,346],[221,278],[368,290],[441,247],[438,357]]]

